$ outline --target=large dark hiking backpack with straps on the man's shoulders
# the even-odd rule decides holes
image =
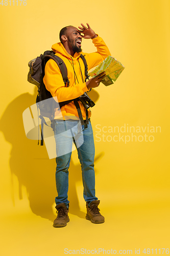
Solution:
[[[85,82],[86,82],[86,80],[89,79],[87,62],[86,62],[85,57],[82,54],[80,55],[80,57],[82,58],[84,66],[85,66]],[[52,94],[46,90],[45,85],[43,83],[45,65],[49,59],[53,59],[57,63],[57,65],[61,71],[61,75],[62,75],[64,84],[65,84],[65,87],[69,87],[69,80],[67,77],[66,65],[60,57],[55,55],[55,52],[45,51],[43,54],[41,54],[37,58],[29,61],[28,65],[29,65],[30,71],[28,73],[28,81],[30,83],[35,84],[38,87],[38,95],[36,98],[36,105],[37,105],[38,113],[40,111],[40,115],[38,114],[38,116],[41,119],[41,145],[43,145],[43,123],[45,125],[47,125],[44,117],[47,117],[51,120],[51,127],[54,129],[53,121],[54,121],[54,109],[56,108],[56,105],[58,107],[58,104],[59,104],[59,106],[61,108],[65,104],[68,104],[71,101],[74,101],[77,111],[78,111],[78,115],[79,115],[81,124],[82,125],[84,124],[85,127],[87,127],[87,124],[88,124],[87,109],[89,107],[92,107],[95,105],[95,103],[90,99],[90,97],[87,95],[87,93],[84,93],[83,95],[81,95],[80,97],[78,97],[76,99],[62,101],[57,104],[57,102],[53,99]],[[50,101],[47,100],[50,98],[52,98]],[[84,108],[86,109],[86,120],[85,121],[83,120],[83,117],[82,117],[80,105],[78,102],[79,100],[82,102]],[[49,126],[49,125],[47,125],[47,126]],[[39,140],[38,140],[38,145],[39,145]]]

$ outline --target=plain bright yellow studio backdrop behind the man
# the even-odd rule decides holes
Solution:
[[[19,4],[10,6],[8,1],[0,6],[0,255],[65,255],[64,248],[132,249],[133,254],[140,248],[142,255],[144,248],[153,248],[154,254],[157,248],[159,254],[159,248],[170,247],[169,0],[27,0],[26,6]],[[53,228],[55,159],[49,160],[45,147],[27,139],[23,130],[22,112],[35,103],[37,94],[27,82],[28,62],[59,41],[62,27],[86,22],[125,66],[114,85],[100,84],[91,92],[96,101],[91,118],[96,196],[106,222],[95,225],[85,220],[81,168],[73,152],[70,222]],[[95,51],[91,40],[84,39],[82,45],[84,52]],[[161,132],[147,132],[154,136],[153,142],[97,142],[95,126],[99,124],[101,128],[160,126]],[[117,135],[104,131],[101,136]]]

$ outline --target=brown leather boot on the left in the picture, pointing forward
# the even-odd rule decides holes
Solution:
[[[54,220],[54,227],[65,227],[67,222],[69,222],[68,210],[65,203],[58,204],[57,209],[57,218]]]

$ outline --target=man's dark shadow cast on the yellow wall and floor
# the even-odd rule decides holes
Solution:
[[[11,176],[15,174],[19,182],[19,199],[22,199],[22,185],[26,186],[30,208],[34,214],[48,220],[54,220],[52,205],[56,197],[55,183],[55,159],[48,159],[45,146],[38,146],[37,140],[29,140],[26,137],[22,122],[22,113],[29,106],[35,104],[35,94],[22,94],[14,99],[4,112],[0,120],[0,130],[5,139],[12,144],[9,159]],[[90,97],[95,102],[99,94],[92,90]],[[100,159],[104,153],[95,157]],[[95,171],[96,172],[96,171]],[[85,212],[80,211],[76,182],[82,180],[81,166],[70,162],[69,167],[69,212],[80,218],[85,218]],[[82,194],[83,197],[83,194]],[[14,202],[15,206],[15,202]]]

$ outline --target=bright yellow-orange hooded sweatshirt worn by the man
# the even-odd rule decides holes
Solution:
[[[99,65],[107,56],[111,55],[108,47],[106,46],[103,39],[98,35],[96,38],[92,39],[94,46],[97,48],[97,52],[94,53],[83,53],[81,52],[87,61],[88,70]],[[62,79],[61,72],[57,63],[50,59],[45,65],[45,75],[43,82],[48,91],[51,92],[52,96],[57,96],[58,102],[66,101],[70,99],[75,99],[82,95],[84,92],[88,92],[86,83],[82,81],[81,71],[83,78],[85,80],[85,67],[82,58],[80,57],[81,53],[75,53],[74,57],[69,55],[61,42],[54,44],[52,50],[55,52],[55,55],[59,56],[65,63],[67,67],[67,76],[69,79],[69,87],[65,87],[64,81]],[[80,65],[79,65],[80,63]],[[81,68],[80,68],[81,67]],[[75,77],[75,73],[76,76]],[[76,84],[75,84],[76,79]],[[82,112],[83,119],[86,119],[86,112],[83,104],[79,101],[80,109]],[[62,116],[65,119],[78,119],[79,115],[76,109],[74,102],[70,102],[62,106],[61,108]],[[88,110],[88,117],[91,116],[90,110]],[[61,115],[58,115],[58,112],[55,113],[55,119],[60,119]]]

